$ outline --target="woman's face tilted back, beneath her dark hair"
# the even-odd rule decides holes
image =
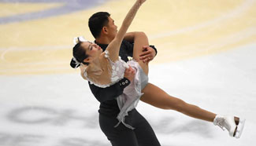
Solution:
[[[93,42],[82,42],[81,46],[92,59],[99,57],[102,53],[102,48]]]

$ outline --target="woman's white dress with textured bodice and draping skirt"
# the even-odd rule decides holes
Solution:
[[[123,94],[117,97],[117,104],[120,108],[120,112],[117,115],[117,119],[119,122],[116,125],[118,126],[122,122],[124,126],[127,126],[130,129],[134,129],[132,126],[129,126],[124,122],[125,116],[128,115],[128,111],[132,111],[132,109],[137,106],[140,97],[143,95],[143,93],[141,93],[141,90],[147,85],[148,76],[144,73],[143,69],[135,60],[130,60],[126,63],[124,62],[124,60],[121,60],[121,57],[119,57],[119,60],[113,62],[112,60],[110,60],[109,52],[107,50],[105,51],[105,57],[107,58],[107,60],[109,60],[110,64],[109,71],[111,73],[111,82],[109,84],[102,85],[100,83],[93,82],[94,79],[88,78],[86,71],[83,71],[83,76],[86,77],[91,84],[94,84],[95,86],[101,88],[106,88],[119,82],[122,78],[124,78],[124,71],[129,66],[135,69],[134,80],[127,87],[124,88]]]

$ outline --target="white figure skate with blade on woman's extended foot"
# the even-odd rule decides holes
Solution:
[[[245,119],[239,119],[234,116],[221,116],[216,115],[213,124],[216,126],[220,126],[222,130],[224,128],[228,130],[229,135],[231,137],[239,138],[243,132],[243,126],[245,123]]]

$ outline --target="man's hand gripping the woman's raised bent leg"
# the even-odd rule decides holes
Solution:
[[[149,63],[150,60],[153,60],[156,55],[156,52],[150,46],[143,46],[143,53],[139,55],[139,59],[143,62]]]

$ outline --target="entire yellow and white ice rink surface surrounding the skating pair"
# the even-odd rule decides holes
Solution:
[[[117,26],[135,0],[0,0],[0,146],[108,146],[99,103],[72,69],[72,38],[107,11]],[[142,101],[162,146],[256,144],[256,0],[147,0],[128,31],[158,55],[150,82],[221,115],[247,119],[240,139],[213,123]]]

